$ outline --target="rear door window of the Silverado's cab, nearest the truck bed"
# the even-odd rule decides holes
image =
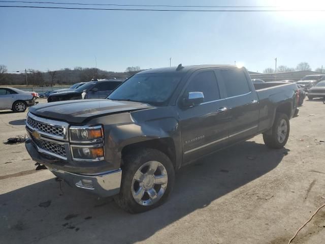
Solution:
[[[227,97],[234,97],[250,92],[244,72],[240,69],[220,70],[227,93]]]

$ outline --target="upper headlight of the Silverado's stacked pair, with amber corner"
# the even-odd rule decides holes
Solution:
[[[102,126],[74,126],[70,127],[70,140],[72,142],[97,142],[104,139]]]

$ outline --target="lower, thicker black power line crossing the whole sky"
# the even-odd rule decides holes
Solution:
[[[325,9],[311,9],[311,10],[103,9],[103,8],[67,8],[67,7],[44,7],[44,6],[0,6],[0,8],[106,10],[106,11],[159,11],[159,12],[325,12]]]

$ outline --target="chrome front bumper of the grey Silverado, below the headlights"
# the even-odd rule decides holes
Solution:
[[[101,197],[113,196],[120,191],[121,169],[91,175],[75,174],[49,167],[48,169],[69,186],[81,188]]]

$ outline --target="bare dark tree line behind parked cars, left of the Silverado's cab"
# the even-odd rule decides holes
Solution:
[[[7,67],[0,65],[0,85],[26,85],[26,74],[28,86],[55,86],[87,82],[91,79],[126,79],[140,71],[139,66],[131,66],[127,67],[125,72],[75,67],[74,69],[65,68],[47,70],[46,72],[28,69],[26,73],[25,71],[8,73]]]

